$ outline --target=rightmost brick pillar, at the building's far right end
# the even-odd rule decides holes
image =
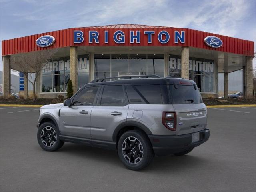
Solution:
[[[245,66],[245,92],[244,98],[251,99],[253,97],[253,86],[252,86],[252,78],[253,78],[253,71],[252,71],[252,59],[253,57],[246,57],[246,66]]]

